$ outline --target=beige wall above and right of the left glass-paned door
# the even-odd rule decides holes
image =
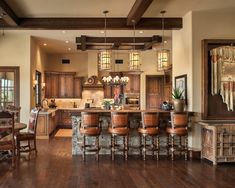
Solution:
[[[30,37],[5,32],[0,37],[0,66],[20,66],[20,120],[28,123],[30,111]]]

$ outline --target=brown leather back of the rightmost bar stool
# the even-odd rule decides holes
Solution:
[[[172,128],[188,127],[188,112],[171,112]]]

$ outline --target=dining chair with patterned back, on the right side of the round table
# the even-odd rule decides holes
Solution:
[[[40,108],[33,108],[30,112],[28,131],[27,132],[19,132],[16,135],[17,142],[17,155],[20,159],[20,154],[24,152],[29,153],[29,158],[31,156],[31,152],[35,151],[37,155],[37,144],[36,144],[36,131],[37,131],[37,120]],[[33,142],[33,147],[31,142]]]

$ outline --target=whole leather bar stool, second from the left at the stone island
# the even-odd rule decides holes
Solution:
[[[128,114],[123,112],[111,112],[111,125],[108,128],[108,132],[111,134],[112,160],[114,160],[116,150],[123,151],[123,156],[125,160],[127,160],[129,130]],[[123,136],[123,144],[117,144],[117,136]]]

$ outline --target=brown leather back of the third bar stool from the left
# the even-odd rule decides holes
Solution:
[[[142,127],[158,127],[159,126],[159,114],[156,112],[142,112]]]

